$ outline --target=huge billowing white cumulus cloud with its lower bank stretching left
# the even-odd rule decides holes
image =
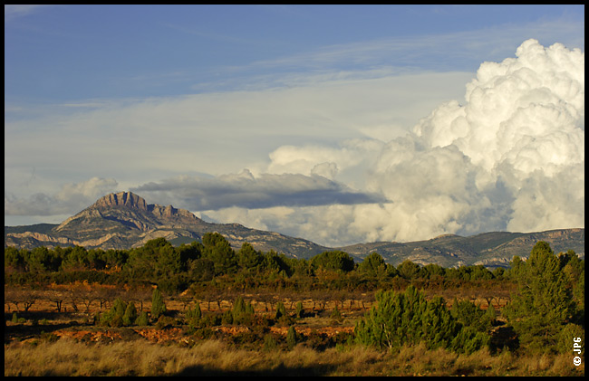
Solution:
[[[465,100],[353,160],[348,148],[276,149],[270,168],[355,166],[366,192],[392,202],[293,210],[289,227],[284,210],[256,221],[326,244],[584,226],[584,52],[528,40],[482,63]]]

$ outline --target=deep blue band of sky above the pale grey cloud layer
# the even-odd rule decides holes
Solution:
[[[582,43],[574,28],[584,23],[584,6],[39,6],[5,11],[5,95],[41,102],[144,98],[232,90],[252,85],[252,76],[292,71],[476,71],[481,59],[505,58],[526,33],[537,39],[533,28],[544,23],[564,29],[538,31],[545,43],[559,33]],[[488,30],[507,40],[504,28],[528,32],[510,39],[512,46],[474,36],[464,42],[470,46],[457,43],[463,52],[446,54],[452,37]],[[388,43],[410,55],[381,52]],[[477,56],[483,49],[485,57]]]

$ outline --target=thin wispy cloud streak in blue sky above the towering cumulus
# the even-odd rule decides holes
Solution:
[[[571,37],[583,29],[583,22],[553,20],[496,25],[455,33],[388,37],[322,46],[307,52],[254,61],[233,70],[290,68],[294,71],[323,69],[333,72],[335,67],[340,71],[362,67],[358,75],[364,76],[370,72],[366,71],[367,68],[372,68],[374,73],[379,69],[400,73],[416,70],[473,70],[478,67],[480,57],[488,57],[488,60],[502,59],[529,36],[534,36],[545,44],[559,42],[574,46],[584,45],[583,36],[576,39]],[[462,62],[461,67],[457,66],[459,62]]]

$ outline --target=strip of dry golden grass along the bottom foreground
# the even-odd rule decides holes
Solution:
[[[5,376],[584,376],[572,356],[458,355],[422,345],[387,353],[358,346],[270,352],[204,340],[188,348],[146,341],[70,339],[5,346]]]

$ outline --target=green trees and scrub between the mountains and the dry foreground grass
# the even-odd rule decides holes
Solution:
[[[254,296],[265,312],[254,310]],[[501,298],[510,300],[505,309]],[[294,307],[307,299],[314,300],[312,309]],[[503,329],[515,332],[510,350],[553,356],[570,354],[570,340],[584,338],[584,260],[572,251],[556,255],[538,242],[527,261],[515,257],[507,270],[409,261],[395,268],[376,252],[360,264],[337,251],[310,261],[257,252],[247,244],[235,252],[218,233],[179,247],[159,238],[130,251],[5,248],[5,307],[28,310],[35,300],[51,300],[58,312],[66,305],[74,311],[85,306],[89,315],[92,303],[100,302],[101,314],[93,321],[103,327],[180,322],[201,336],[219,325],[290,327],[305,315],[323,313],[327,303],[334,306],[327,316],[337,325],[348,301],[350,312],[352,302],[356,310],[372,308],[355,320],[350,340],[323,348],[354,341],[384,352],[424,345],[460,356],[484,349],[496,355],[507,344],[494,342],[491,330]],[[169,300],[193,307],[169,310]],[[229,307],[221,308],[227,300]],[[485,300],[485,309],[475,300]],[[208,306],[206,313],[200,302]],[[309,341],[291,336],[291,348]],[[256,338],[261,346],[263,335]]]

